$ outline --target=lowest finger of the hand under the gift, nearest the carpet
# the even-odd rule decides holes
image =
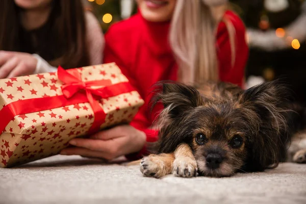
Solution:
[[[80,155],[82,157],[88,157],[88,158],[100,158],[100,159],[107,159],[111,160],[110,156],[106,152],[102,151],[93,151],[86,148],[80,148],[80,147],[71,147],[71,148],[65,148],[60,152],[61,155]]]

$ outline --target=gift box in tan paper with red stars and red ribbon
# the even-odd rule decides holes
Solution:
[[[0,167],[59,154],[144,104],[115,63],[0,80]]]

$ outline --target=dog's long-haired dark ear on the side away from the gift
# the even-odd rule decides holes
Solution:
[[[240,95],[239,103],[257,115],[253,123],[258,133],[249,138],[249,170],[264,170],[286,156],[290,99],[289,89],[280,81],[254,86]]]

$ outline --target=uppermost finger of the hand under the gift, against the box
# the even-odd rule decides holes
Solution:
[[[121,137],[124,133],[127,134],[129,126],[128,125],[120,125],[113,127],[112,129],[100,131],[92,136],[91,139],[98,139],[98,140],[110,140],[112,138]]]

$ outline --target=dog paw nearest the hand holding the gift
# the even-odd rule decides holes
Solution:
[[[140,163],[140,171],[145,176],[155,178],[164,176],[163,166],[157,157],[144,157]]]

